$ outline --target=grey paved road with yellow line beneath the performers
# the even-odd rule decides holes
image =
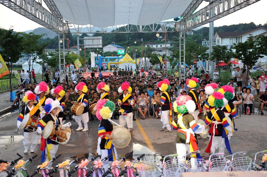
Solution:
[[[16,153],[22,154],[25,158],[33,155],[30,153],[23,154],[23,132],[20,131],[21,134],[17,133],[17,116],[18,112],[14,112],[0,118],[0,159],[14,159]],[[232,152],[248,151],[247,154],[253,154],[257,151],[267,149],[266,120],[267,118],[265,116],[258,115],[242,115],[241,118],[236,119],[238,131],[234,133],[234,136],[230,140]],[[118,123],[118,120],[116,122]],[[77,124],[73,121],[72,125],[74,129],[77,128]],[[99,120],[90,121],[90,130],[88,132],[75,132],[75,134],[71,135],[68,144],[59,145],[57,153],[62,154],[62,156],[57,162],[62,162],[65,159],[71,159],[76,156],[95,154],[98,125]],[[150,118],[134,121],[134,130],[131,132],[132,141],[127,147],[117,149],[118,155],[124,155],[126,153],[160,155],[176,153],[176,132],[160,132],[158,129],[161,126],[162,124],[159,119]],[[199,148],[202,156],[207,155],[204,153],[207,144],[208,139],[199,140]],[[38,154],[38,157],[34,160],[34,165],[29,166],[30,173],[34,171],[36,165],[40,164],[40,151],[36,149],[34,154]],[[151,157],[146,158],[147,160],[151,159]]]

